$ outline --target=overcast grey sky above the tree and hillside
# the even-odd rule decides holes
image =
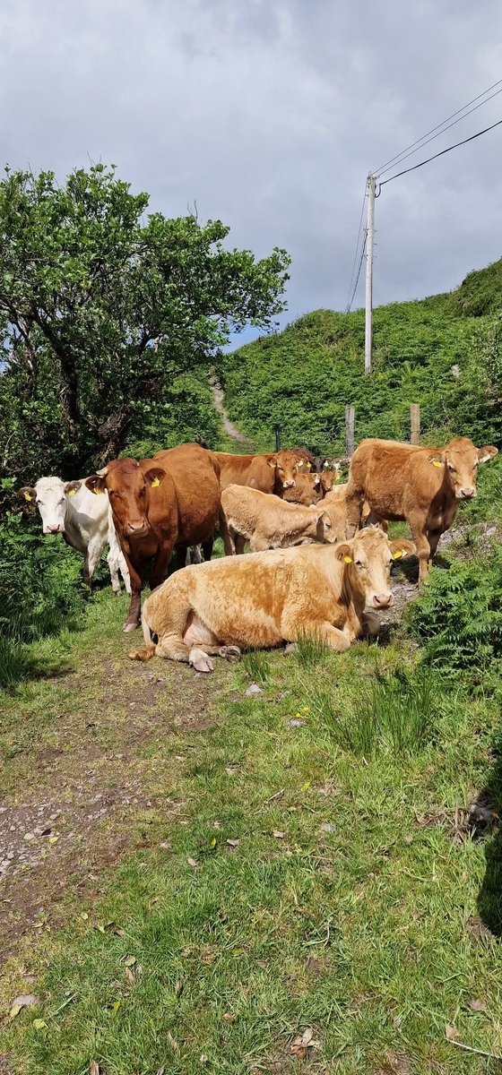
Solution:
[[[502,78],[501,45],[500,0],[2,0],[0,159],[113,162],[152,210],[286,247],[284,324],[345,307],[368,172]],[[501,117],[502,94],[402,167]],[[375,304],[502,256],[501,163],[502,127],[383,187]]]

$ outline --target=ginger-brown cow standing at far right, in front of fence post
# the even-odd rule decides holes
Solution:
[[[364,500],[385,519],[406,519],[417,547],[419,577],[425,578],[458,502],[476,496],[477,464],[497,452],[491,445],[476,448],[467,436],[457,436],[443,448],[361,441],[348,476],[347,538],[359,526]]]

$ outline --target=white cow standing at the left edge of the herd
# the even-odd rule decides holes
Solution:
[[[84,582],[90,586],[104,545],[110,545],[106,560],[112,589],[120,593],[123,576],[126,590],[130,590],[129,571],[115,533],[109,498],[98,501],[85,487],[85,478],[62,482],[51,475],[41,477],[33,487],[19,489],[27,501],[34,501],[42,516],[44,534],[62,533],[64,541],[84,556]]]

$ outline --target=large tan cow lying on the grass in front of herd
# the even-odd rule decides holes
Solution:
[[[305,634],[342,653],[359,635],[377,631],[374,611],[392,603],[392,558],[414,549],[370,527],[341,545],[250,553],[185,568],[145,602],[146,648],[129,656],[149,660],[157,654],[211,672],[210,654],[234,658],[241,647],[277,646]]]

